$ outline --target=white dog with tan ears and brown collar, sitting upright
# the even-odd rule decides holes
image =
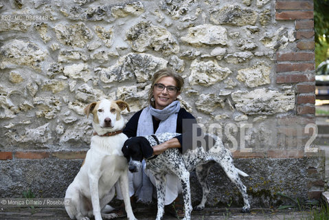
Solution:
[[[93,102],[84,109],[87,117],[89,113],[93,114],[95,132],[84,164],[65,194],[69,201],[65,208],[71,219],[88,220],[92,215],[95,220],[117,217],[104,212],[111,210],[111,206],[106,204],[113,199],[113,186],[119,180],[127,217],[135,220],[128,193],[128,163],[121,151],[127,140],[122,133],[124,118],[121,111],[124,109],[130,111],[128,104],[122,100]]]

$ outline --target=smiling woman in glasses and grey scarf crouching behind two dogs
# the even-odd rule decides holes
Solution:
[[[133,115],[126,124],[124,133],[128,137],[164,132],[181,133],[181,135],[167,142],[154,146],[153,154],[159,155],[168,148],[179,148],[182,152],[183,146],[190,144],[186,143],[190,138],[185,137],[191,137],[192,124],[196,123],[194,116],[181,108],[180,102],[177,100],[177,96],[181,94],[183,89],[183,84],[183,78],[174,74],[170,69],[162,69],[155,73],[152,78],[152,87],[148,93],[150,105]],[[165,210],[175,216],[183,217],[183,210],[177,207],[174,210],[174,207],[171,205],[177,199],[181,190],[181,183],[178,177],[174,175],[166,175],[166,179]],[[155,180],[148,173],[148,170],[144,169],[144,173],[130,173],[129,181],[129,193],[131,196],[135,195],[139,201],[144,203],[152,201],[152,185],[150,181],[155,185]],[[120,197],[120,190],[117,190],[117,198],[121,199]]]

